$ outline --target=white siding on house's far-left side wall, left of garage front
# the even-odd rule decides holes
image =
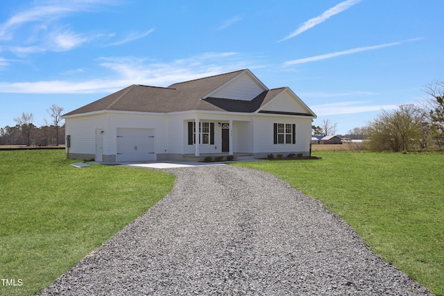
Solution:
[[[65,134],[71,136],[69,153],[95,155],[96,129],[105,130],[106,119],[106,114],[65,119]],[[105,149],[105,138],[103,139],[103,146]]]

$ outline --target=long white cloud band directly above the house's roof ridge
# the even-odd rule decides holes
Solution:
[[[237,57],[236,53],[203,53],[168,63],[157,62],[148,58],[101,58],[99,59],[99,65],[111,69],[114,75],[108,78],[83,81],[0,82],[0,92],[20,94],[109,94],[133,84],[167,87],[175,82],[203,78],[247,67],[252,69],[255,67],[255,61]],[[74,72],[71,71],[70,73]]]

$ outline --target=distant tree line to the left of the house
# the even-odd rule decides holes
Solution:
[[[37,127],[34,124],[33,113],[23,112],[15,117],[15,126],[6,125],[0,128],[0,145],[26,146],[59,146],[65,144],[65,124],[62,122],[63,107],[51,105],[46,112],[51,120],[44,119],[44,123]]]

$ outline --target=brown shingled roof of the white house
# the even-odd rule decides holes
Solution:
[[[94,101],[63,116],[105,110],[154,113],[190,110],[252,113],[257,112],[257,110],[275,98],[275,96],[278,96],[278,94],[282,92],[282,89],[285,89],[284,87],[278,89],[267,89],[265,87],[266,90],[251,101],[208,96],[209,94],[213,94],[214,90],[220,89],[223,85],[227,85],[231,80],[237,78],[237,76],[244,75],[245,73],[251,74],[251,76],[255,78],[250,70],[242,69],[216,76],[178,82],[169,87],[130,85],[114,94],[105,96],[98,101]],[[293,115],[316,116],[311,110],[309,110],[307,114]]]

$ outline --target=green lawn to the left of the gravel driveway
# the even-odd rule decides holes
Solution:
[[[173,175],[0,151],[0,295],[33,295],[166,195]]]

